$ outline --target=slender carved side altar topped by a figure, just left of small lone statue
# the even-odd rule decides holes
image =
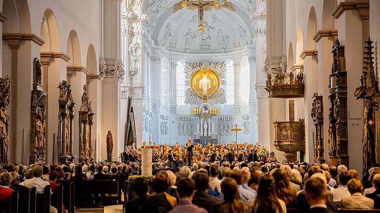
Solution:
[[[79,113],[79,162],[93,161],[92,126],[95,113],[87,96],[87,85],[83,86],[82,104]]]

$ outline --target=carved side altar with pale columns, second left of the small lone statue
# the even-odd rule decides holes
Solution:
[[[58,162],[73,162],[74,156],[74,107],[77,103],[73,100],[70,85],[62,81],[59,88],[59,113],[58,113],[58,134],[57,149]]]

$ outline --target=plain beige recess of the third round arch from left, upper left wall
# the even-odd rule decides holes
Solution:
[[[70,57],[67,66],[81,66],[81,47],[75,30],[70,31],[67,40],[67,55]]]

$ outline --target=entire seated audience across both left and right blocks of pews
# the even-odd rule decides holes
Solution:
[[[140,165],[5,165],[0,168],[0,199],[6,199],[13,190],[25,194],[32,187],[43,193],[46,185],[53,193],[62,184],[63,206],[67,206],[70,181],[128,177],[139,174]],[[133,199],[126,201],[127,212],[286,213],[291,209],[334,213],[338,208],[380,209],[380,165],[371,168],[364,182],[356,170],[347,170],[344,165],[198,161],[178,172],[155,169],[151,183],[143,177],[129,183]],[[56,209],[50,207],[50,212]]]

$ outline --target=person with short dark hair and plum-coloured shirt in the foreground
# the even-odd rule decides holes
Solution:
[[[191,203],[195,194],[195,182],[190,178],[183,178],[177,184],[180,202],[169,213],[207,213],[203,208],[200,208]]]

